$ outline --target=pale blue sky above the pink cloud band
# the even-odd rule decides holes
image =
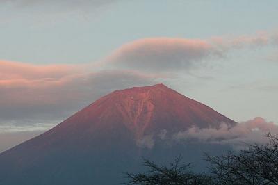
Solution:
[[[28,63],[84,63],[139,38],[272,31],[278,2],[266,2],[118,1],[97,8],[86,2],[1,3],[0,56]]]

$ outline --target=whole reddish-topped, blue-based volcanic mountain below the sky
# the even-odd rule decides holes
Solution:
[[[120,184],[141,156],[194,161],[210,145],[165,140],[190,127],[236,122],[163,84],[115,90],[49,131],[0,154],[0,184]],[[163,136],[163,138],[162,138]],[[197,159],[199,160],[199,159]]]

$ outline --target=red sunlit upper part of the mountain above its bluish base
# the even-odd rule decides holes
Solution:
[[[56,129],[84,129],[97,134],[121,125],[140,138],[161,129],[217,128],[221,122],[235,124],[212,108],[157,84],[116,90],[65,120]]]

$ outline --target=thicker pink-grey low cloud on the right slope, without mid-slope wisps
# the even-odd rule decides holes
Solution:
[[[257,117],[253,120],[240,122],[231,128],[225,123],[222,123],[218,129],[192,127],[186,131],[180,131],[172,137],[178,142],[229,144],[238,148],[244,146],[245,143],[265,142],[264,135],[268,132],[278,134],[278,125]]]

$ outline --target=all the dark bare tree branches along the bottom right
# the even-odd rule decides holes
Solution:
[[[126,184],[185,185],[185,184],[278,184],[278,138],[266,134],[265,145],[247,145],[246,150],[228,152],[222,156],[205,154],[210,163],[209,172],[196,174],[190,164],[181,165],[179,156],[170,166],[158,166],[144,159],[147,172],[127,173]]]

